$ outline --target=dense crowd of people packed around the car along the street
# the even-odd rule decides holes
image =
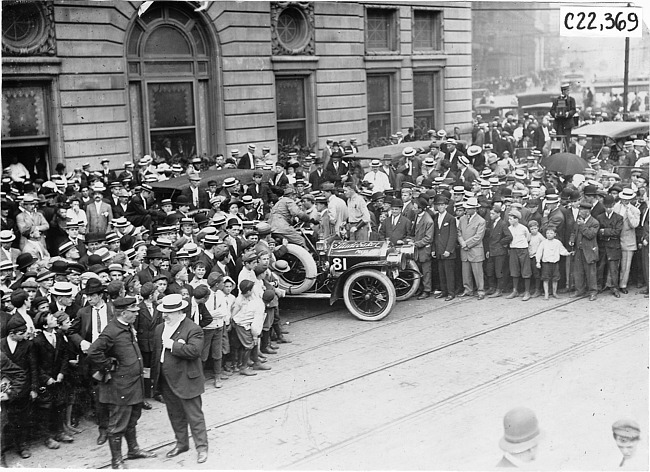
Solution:
[[[412,242],[419,299],[572,291],[596,300],[632,284],[648,293],[648,138],[623,144],[638,166],[623,184],[606,156],[582,152],[582,139],[572,145],[584,172],[545,171],[546,134],[534,117],[475,128],[471,145],[429,130],[426,148],[369,163],[354,139],[277,161],[250,144],[243,156],[210,162],[144,156],[120,172],[107,160],[94,172],[86,164],[66,174],[61,164],[47,181],[31,181],[12,161],[2,180],[0,353],[3,371],[17,366],[25,378],[3,387],[3,458],[11,446],[29,457],[35,438],[52,449],[73,442],[84,415],[99,425],[98,444],[109,441],[114,467],[122,437],[127,457],[149,457],[135,423],[157,398],[177,437],[169,457],[187,450],[189,423],[205,461],[202,415],[190,401],[203,390],[175,391],[176,374],[165,369],[176,361],[165,356],[191,351],[200,361],[187,369],[201,380],[209,373],[217,389],[233,373],[269,370],[267,356],[290,342],[279,309],[290,292],[281,288],[283,256],[288,244],[305,246],[306,234]],[[413,130],[392,139],[414,141]],[[526,142],[530,152],[515,155]],[[254,169],[252,181],[203,177],[235,167]],[[154,191],[168,179],[182,188],[171,199]],[[174,337],[179,323],[194,333],[191,345]],[[120,345],[142,366],[129,385],[117,380],[127,376],[116,375]]]

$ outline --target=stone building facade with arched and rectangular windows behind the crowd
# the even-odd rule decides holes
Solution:
[[[2,52],[3,167],[471,122],[469,2],[3,2]]]

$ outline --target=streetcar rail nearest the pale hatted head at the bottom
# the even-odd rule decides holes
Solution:
[[[622,326],[618,326],[614,329],[611,329],[607,332],[601,333],[600,335],[587,339],[585,341],[582,341],[576,345],[570,346],[568,348],[565,348],[559,352],[555,352],[553,354],[550,354],[540,360],[535,360],[532,361],[528,364],[525,364],[521,367],[518,367],[514,370],[511,370],[509,372],[506,372],[503,375],[499,375],[493,379],[490,379],[488,381],[485,381],[479,385],[467,388],[463,390],[462,392],[454,393],[453,395],[450,395],[442,400],[438,400],[434,403],[431,403],[429,405],[426,405],[424,407],[418,408],[416,411],[412,411],[406,415],[403,415],[399,418],[387,421],[385,423],[382,423],[376,427],[370,428],[360,434],[357,434],[353,437],[347,438],[343,441],[340,441],[336,444],[332,444],[331,446],[327,446],[323,449],[320,449],[317,452],[314,452],[312,454],[309,454],[307,456],[301,457],[297,461],[290,462],[288,464],[284,464],[282,466],[283,469],[285,468],[304,468],[301,467],[305,463],[313,460],[314,458],[317,458],[322,455],[330,454],[333,451],[342,449],[350,444],[353,444],[355,442],[358,442],[361,439],[367,438],[368,436],[371,436],[377,432],[381,431],[386,431],[390,428],[393,428],[396,425],[402,424],[402,423],[407,423],[410,422],[414,419],[417,419],[421,416],[424,416],[428,413],[442,410],[445,408],[449,408],[449,410],[453,410],[454,408],[458,408],[459,406],[462,406],[472,400],[474,400],[479,394],[487,394],[497,388],[502,387],[504,384],[508,384],[510,382],[513,382],[514,380],[521,380],[526,377],[530,377],[534,375],[535,373],[547,368],[549,364],[556,363],[560,360],[563,360],[567,357],[570,356],[577,356],[577,355],[583,355],[586,353],[589,353],[595,349],[598,349],[602,347],[603,345],[611,344],[613,342],[616,342],[619,339],[622,339],[624,337],[627,337],[630,332],[635,332],[638,329],[647,326],[648,323],[648,318],[643,317],[643,318],[638,318],[636,320],[632,320]]]

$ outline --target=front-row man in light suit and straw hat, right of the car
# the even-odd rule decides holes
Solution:
[[[485,251],[483,249],[483,236],[485,235],[485,220],[481,218],[476,210],[479,204],[476,197],[470,197],[463,203],[467,214],[461,216],[458,224],[458,242],[460,244],[460,260],[463,270],[463,285],[465,291],[461,297],[469,297],[474,292],[472,275],[478,288],[478,299],[485,298],[485,286],[483,280],[483,261]]]

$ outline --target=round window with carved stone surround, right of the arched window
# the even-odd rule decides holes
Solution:
[[[271,3],[271,47],[274,56],[313,56],[314,4]]]

